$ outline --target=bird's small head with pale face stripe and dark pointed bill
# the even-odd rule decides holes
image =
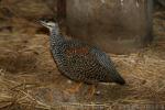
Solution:
[[[54,30],[58,30],[58,24],[53,22],[53,21],[46,21],[46,20],[40,20],[41,24],[47,29],[50,29],[50,31]]]

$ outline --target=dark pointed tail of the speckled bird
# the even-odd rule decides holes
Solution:
[[[114,69],[111,74],[111,79],[113,82],[120,84],[120,85],[124,85],[125,80],[121,77],[121,75]]]

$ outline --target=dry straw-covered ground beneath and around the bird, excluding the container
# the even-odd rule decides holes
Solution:
[[[46,34],[0,33],[0,109],[2,110],[164,110],[165,12],[154,14],[155,41],[129,55],[110,54],[125,86],[100,84],[67,95],[74,85],[63,77],[50,53]],[[124,109],[123,109],[124,108]]]

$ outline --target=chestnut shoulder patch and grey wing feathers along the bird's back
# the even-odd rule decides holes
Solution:
[[[101,50],[96,46],[90,46],[87,43],[72,40],[67,41],[67,55],[84,55],[88,57],[94,57],[100,65],[102,65],[107,69],[113,69],[114,65],[111,62],[110,57],[106,55]]]

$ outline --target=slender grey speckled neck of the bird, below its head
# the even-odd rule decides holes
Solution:
[[[62,43],[64,41],[64,37],[59,33],[59,29],[51,30],[50,40],[51,40],[51,46],[58,45],[59,43]]]

